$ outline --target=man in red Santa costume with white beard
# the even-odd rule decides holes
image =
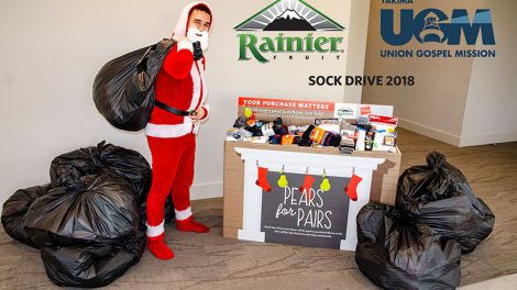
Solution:
[[[199,122],[210,112],[202,52],[208,47],[211,21],[211,10],[205,2],[193,2],[183,10],[173,35],[177,44],[165,57],[156,77],[156,104],[145,127],[153,158],[153,182],[147,197],[147,247],[160,259],[174,257],[164,242],[164,205],[169,192],[179,231],[209,231],[193,219],[190,186],[196,133]]]

